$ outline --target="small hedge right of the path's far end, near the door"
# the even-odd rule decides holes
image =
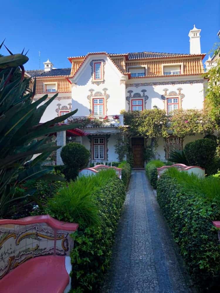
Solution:
[[[172,165],[171,162],[162,162],[160,160],[152,160],[149,163],[147,163],[145,171],[148,179],[150,180],[150,184],[153,186],[153,188],[157,188],[157,168],[170,165]]]

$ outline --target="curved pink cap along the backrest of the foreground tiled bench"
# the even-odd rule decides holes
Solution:
[[[58,221],[53,219],[50,215],[41,215],[41,216],[31,216],[18,220],[10,220],[4,219],[0,220],[0,225],[6,224],[15,224],[15,225],[29,225],[29,224],[37,224],[37,223],[46,223],[53,229],[61,229],[65,231],[76,231],[78,229],[79,224],[77,223],[67,223],[63,221]]]

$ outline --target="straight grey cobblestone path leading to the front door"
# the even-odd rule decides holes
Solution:
[[[105,293],[192,293],[144,171],[133,171]]]

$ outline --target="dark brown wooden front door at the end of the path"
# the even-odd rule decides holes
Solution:
[[[132,139],[132,152],[134,159],[134,168],[144,168],[144,139]]]

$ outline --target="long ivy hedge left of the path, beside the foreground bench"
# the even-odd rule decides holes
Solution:
[[[93,194],[99,205],[101,225],[78,229],[73,234],[74,248],[70,254],[74,293],[98,292],[108,270],[115,231],[125,200],[125,187],[119,178]]]

